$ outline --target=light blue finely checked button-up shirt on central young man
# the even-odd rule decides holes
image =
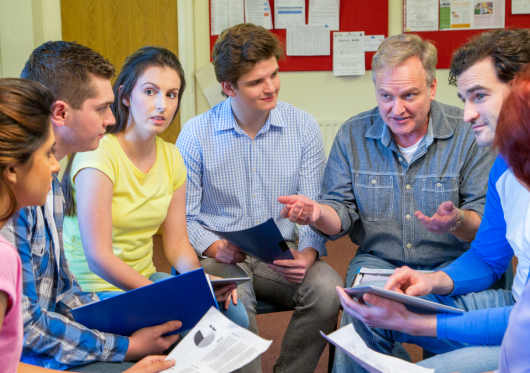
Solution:
[[[309,226],[280,217],[279,196],[316,199],[326,166],[324,144],[313,116],[279,102],[252,140],[236,122],[231,99],[189,120],[177,140],[188,171],[188,235],[202,256],[220,238],[214,230],[250,228],[273,218],[283,238],[298,250],[327,254],[324,239]]]

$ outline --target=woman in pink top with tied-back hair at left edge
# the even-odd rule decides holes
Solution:
[[[23,79],[0,79],[0,229],[25,206],[43,206],[52,174],[60,167],[53,156],[50,122],[53,95],[43,85]],[[24,337],[20,299],[22,268],[16,249],[0,235],[0,371],[50,372],[20,363]],[[127,373],[154,373],[173,360],[149,356]]]

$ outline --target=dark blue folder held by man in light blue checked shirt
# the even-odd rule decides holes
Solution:
[[[272,264],[279,259],[294,259],[273,219],[242,231],[220,232],[208,227],[204,229],[224,238],[262,262]]]

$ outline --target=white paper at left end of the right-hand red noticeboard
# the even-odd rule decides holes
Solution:
[[[405,0],[405,31],[437,31],[438,0]]]

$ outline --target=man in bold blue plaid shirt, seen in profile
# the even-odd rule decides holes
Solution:
[[[55,96],[51,120],[58,161],[72,152],[96,149],[105,127],[115,123],[110,110],[114,73],[108,60],[75,42],[47,42],[31,54],[21,78],[42,83]],[[84,292],[68,269],[63,201],[55,177],[45,206],[23,208],[2,229],[23,266],[21,361],[76,372],[123,372],[133,365],[124,360],[162,353],[178,338],[162,335],[178,329],[180,322],[144,328],[127,338],[88,329],[73,320],[71,309],[99,299]]]

